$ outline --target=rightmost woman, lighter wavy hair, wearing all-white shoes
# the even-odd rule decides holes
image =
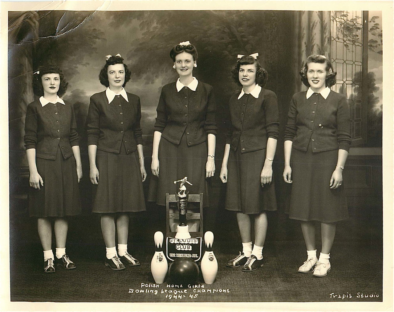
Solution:
[[[284,132],[283,179],[292,183],[289,218],[300,220],[307,260],[298,269],[326,276],[336,222],[348,218],[342,171],[351,143],[350,111],[343,94],[330,90],[336,72],[324,55],[308,56],[300,72],[307,91],[294,94]],[[291,158],[290,158],[291,156]],[[322,252],[316,257],[315,225]]]

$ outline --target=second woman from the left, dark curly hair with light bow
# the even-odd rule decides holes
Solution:
[[[123,88],[131,72],[119,54],[106,58],[99,79],[107,88],[91,96],[87,114],[90,180],[95,185],[92,211],[101,214],[106,245],[104,264],[113,270],[123,270],[125,265],[140,264],[127,252],[129,214],[145,211],[142,182],[147,174],[141,103],[138,96]]]

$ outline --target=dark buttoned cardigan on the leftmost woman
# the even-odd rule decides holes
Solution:
[[[38,158],[55,160],[58,146],[64,159],[73,155],[78,145],[74,107],[65,102],[41,106],[39,99],[26,110],[24,142],[26,149],[35,148]]]

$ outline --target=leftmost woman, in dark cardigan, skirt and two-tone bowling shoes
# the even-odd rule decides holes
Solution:
[[[55,265],[76,267],[66,254],[67,218],[81,212],[78,182],[82,178],[82,163],[74,107],[59,98],[67,85],[58,66],[39,68],[33,75],[33,91],[39,98],[26,110],[29,213],[37,217],[45,273],[54,273]],[[52,221],[56,258],[52,252]]]

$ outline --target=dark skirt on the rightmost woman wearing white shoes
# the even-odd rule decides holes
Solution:
[[[344,182],[339,188],[330,189],[337,160],[338,150],[314,153],[312,144],[307,152],[292,149],[290,219],[324,223],[348,219]]]

